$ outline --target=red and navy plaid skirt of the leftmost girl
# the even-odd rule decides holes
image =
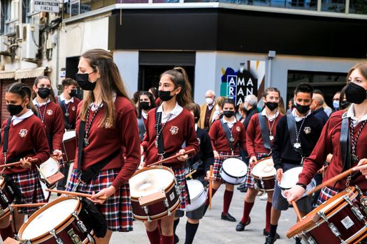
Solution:
[[[20,204],[38,204],[47,202],[41,188],[41,183],[38,178],[36,169],[22,172],[19,174],[9,174],[13,181],[18,185],[20,192],[22,192],[23,203]],[[30,214],[38,208],[19,208],[19,213]]]

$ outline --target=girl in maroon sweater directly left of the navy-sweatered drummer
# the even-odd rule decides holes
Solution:
[[[269,87],[263,93],[263,102],[265,108],[262,112],[252,116],[246,130],[246,146],[247,153],[250,156],[250,167],[247,170],[247,180],[245,187],[247,192],[245,195],[245,203],[243,206],[243,217],[236,226],[236,231],[243,231],[247,224],[250,224],[250,213],[254,206],[259,190],[255,188],[254,177],[251,174],[251,168],[257,163],[257,160],[265,158],[271,154],[271,144],[273,143],[277,128],[277,124],[282,117],[278,112],[278,103],[280,99],[280,91],[276,88]],[[261,120],[260,120],[261,119]],[[263,137],[266,137],[265,139]],[[268,192],[268,201],[266,203],[266,225],[264,236],[268,236],[270,231],[271,218],[271,199],[273,192]]]

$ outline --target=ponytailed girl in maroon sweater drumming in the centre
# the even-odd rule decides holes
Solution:
[[[164,166],[171,167],[180,185],[181,204],[178,210],[185,210],[189,204],[189,195],[185,179],[185,151],[199,151],[196,139],[194,118],[185,107],[192,102],[191,85],[183,68],[177,67],[161,74],[159,80],[159,99],[161,105],[150,110],[147,115],[146,133],[141,143],[141,152],[145,151],[145,165],[151,165],[171,155],[179,155],[177,160],[167,162]],[[182,144],[185,142],[185,148]],[[195,153],[193,153],[195,154]],[[152,244],[173,243],[173,218],[175,212],[161,219],[160,230],[157,221],[145,222],[147,236]]]

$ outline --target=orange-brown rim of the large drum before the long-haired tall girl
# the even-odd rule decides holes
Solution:
[[[24,222],[24,224],[22,224],[22,226],[20,227],[19,231],[18,231],[18,236],[19,238],[22,240],[22,234],[24,232],[24,229],[26,229],[28,227],[28,225],[36,218],[38,217],[38,215],[40,215],[40,213],[43,213],[48,207],[50,206],[54,206],[55,204],[58,204],[61,201],[64,200],[68,200],[68,199],[76,199],[78,200],[78,204],[76,206],[76,213],[77,215],[79,215],[80,211],[82,211],[82,204],[80,202],[80,199],[78,197],[59,197],[57,199],[55,199],[54,201],[50,201],[48,204],[45,204],[45,206],[42,206],[40,209],[38,209],[36,212],[34,212],[29,219],[27,220],[27,222]],[[65,220],[63,220],[60,224],[58,224],[55,228],[56,233],[59,233],[60,231],[62,231],[63,229],[65,229],[66,227],[69,226],[69,224],[71,224],[71,222],[73,222],[73,215],[69,214],[68,218],[66,218]],[[36,236],[35,238],[31,238],[29,240],[23,240],[23,241],[45,241],[48,240],[49,238],[52,238],[53,236],[49,233],[43,233],[39,236]]]

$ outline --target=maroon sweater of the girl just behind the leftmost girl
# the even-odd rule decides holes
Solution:
[[[46,138],[52,142],[52,150],[61,150],[62,148],[62,136],[64,135],[64,114],[62,109],[55,102],[48,102],[48,104],[38,109],[38,118],[42,118],[45,115],[43,124],[45,125]]]

